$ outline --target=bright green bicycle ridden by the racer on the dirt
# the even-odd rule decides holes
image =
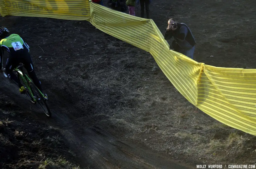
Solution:
[[[19,65],[13,71],[16,72],[18,79],[22,80],[23,86],[26,89],[26,94],[29,100],[34,104],[38,103],[41,106],[41,108],[44,110],[46,116],[51,117],[51,111],[46,102],[47,100],[45,99],[44,94],[36,87],[36,85],[29,78],[29,76],[23,72],[23,69],[22,69],[23,66],[24,66],[23,64]],[[4,71],[5,69],[2,70],[2,73],[4,74],[5,77],[8,77]]]

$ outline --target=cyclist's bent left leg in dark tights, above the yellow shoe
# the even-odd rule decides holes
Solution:
[[[13,73],[13,69],[16,68],[19,65],[19,58],[15,55],[9,55],[7,58],[6,64],[5,64],[5,71],[8,75],[8,77],[13,80],[19,88],[22,87],[22,84],[20,83],[18,77]]]

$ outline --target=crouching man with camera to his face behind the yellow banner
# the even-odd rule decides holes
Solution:
[[[174,51],[182,53],[193,59],[195,51],[195,38],[185,23],[176,22],[173,18],[168,20],[168,27],[164,32],[164,39],[174,37],[172,46]]]

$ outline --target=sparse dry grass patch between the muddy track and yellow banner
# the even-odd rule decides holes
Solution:
[[[75,106],[90,107],[97,103],[93,118],[104,115],[102,121],[110,121],[125,131],[121,135],[124,138],[141,140],[176,157],[204,162],[234,162],[240,154],[254,152],[254,136],[238,134],[237,130],[197,111],[159,68],[151,71],[156,64],[148,53],[88,57],[89,61],[79,58],[70,67],[59,67],[51,77],[68,82],[69,86],[62,87],[70,92],[79,85],[79,91],[85,92],[76,92],[80,100]],[[84,97],[89,100],[84,102]]]

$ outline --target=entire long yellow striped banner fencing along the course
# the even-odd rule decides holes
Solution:
[[[0,0],[0,4],[1,16],[90,21],[101,31],[150,52],[175,88],[200,110],[228,126],[256,136],[256,69],[198,63],[169,50],[153,20],[127,15],[87,0],[12,0],[5,3]]]

